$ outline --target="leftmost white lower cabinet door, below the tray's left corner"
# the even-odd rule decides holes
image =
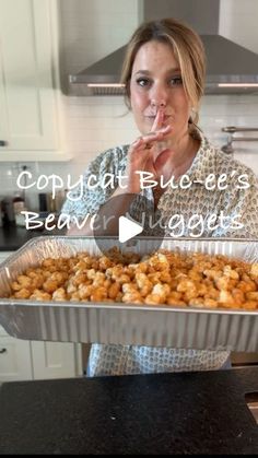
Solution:
[[[30,342],[9,337],[0,327],[0,383],[32,378]]]

